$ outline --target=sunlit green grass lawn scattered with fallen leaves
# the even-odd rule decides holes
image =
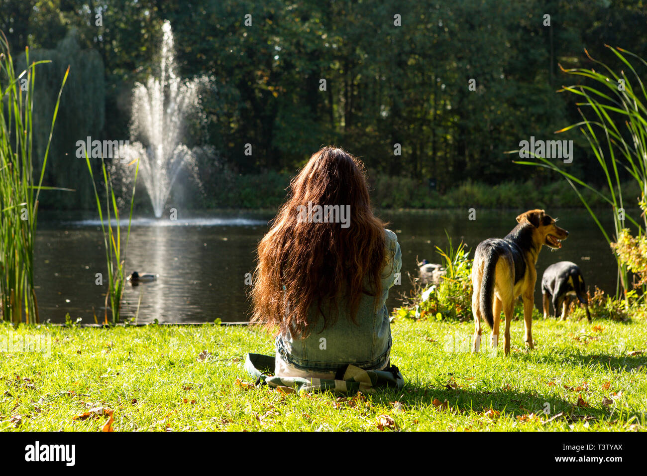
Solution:
[[[0,353],[0,431],[98,431],[107,416],[74,419],[94,407],[114,411],[114,431],[380,431],[380,421],[385,431],[646,428],[643,321],[540,319],[529,352],[514,321],[509,357],[466,352],[472,330],[397,319],[391,360],[404,389],[342,398],[247,388],[245,353],[273,350],[269,335],[247,327],[0,324],[5,339],[51,336],[49,357]]]

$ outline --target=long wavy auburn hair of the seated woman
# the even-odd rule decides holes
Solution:
[[[384,227],[373,215],[364,164],[340,148],[313,154],[292,179],[288,200],[258,244],[252,323],[307,336],[320,317],[333,325],[340,306],[356,323],[362,293],[382,294]],[[314,205],[349,205],[350,221],[303,220]],[[347,209],[347,208],[346,208]],[[311,222],[314,221],[314,222]]]

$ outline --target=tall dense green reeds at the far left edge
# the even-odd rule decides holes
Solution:
[[[38,197],[44,187],[54,122],[58,114],[63,86],[69,67],[63,76],[43,156],[38,184],[35,185],[32,163],[34,82],[36,65],[29,64],[29,49],[25,49],[27,69],[16,75],[8,41],[0,34],[0,299],[3,321],[38,323],[38,301],[34,292],[34,242]]]

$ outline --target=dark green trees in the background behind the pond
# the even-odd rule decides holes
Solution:
[[[573,81],[559,65],[593,67],[586,48],[617,67],[605,43],[647,58],[642,1],[0,0],[0,30],[14,56],[29,45],[38,59],[56,60],[44,66],[52,87],[43,91],[58,93],[77,58],[47,185],[79,193],[51,192],[60,199],[45,206],[93,206],[83,198],[84,165],[71,164],[73,144],[86,135],[129,137],[131,89],[155,72],[164,19],[182,76],[214,78],[203,94],[208,120],[186,138],[218,151],[200,164],[207,198],[241,187],[239,174],[256,176],[249,183],[270,177],[283,190],[281,177],[322,144],[360,155],[385,188],[428,190],[433,181],[444,194],[468,179],[546,186],[556,177],[503,153],[531,136],[573,139],[571,170],[602,185],[580,133],[554,135],[581,119],[576,97],[556,93]],[[80,100],[88,91],[93,99]]]

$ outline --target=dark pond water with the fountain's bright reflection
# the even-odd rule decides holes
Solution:
[[[543,270],[558,261],[580,265],[587,286],[615,292],[617,269],[613,255],[586,210],[547,210],[571,234],[562,249],[543,247],[537,263],[535,303],[541,308]],[[608,214],[608,212],[605,212]],[[445,230],[454,245],[463,240],[468,249],[485,238],[503,237],[515,225],[514,211],[467,210],[382,212],[402,249],[402,284],[392,288],[389,310],[399,306],[400,293],[411,289],[407,273],[417,275],[416,260],[440,262],[435,245],[446,247]],[[35,250],[35,284],[41,322],[72,320],[102,322],[106,286],[98,286],[96,273],[107,279],[104,240],[96,220],[60,213],[39,213]],[[245,321],[250,317],[250,286],[245,274],[254,269],[256,244],[267,232],[272,215],[249,212],[218,213],[179,218],[177,221],[138,219],[133,222],[127,249],[126,272],[149,272],[157,281],[126,285],[123,312],[138,323]],[[609,218],[608,223],[611,225]],[[125,229],[123,229],[125,231]]]

